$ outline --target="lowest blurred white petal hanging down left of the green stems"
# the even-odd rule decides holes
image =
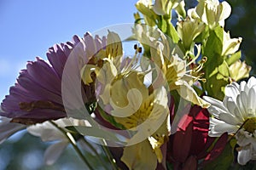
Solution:
[[[46,165],[52,165],[61,156],[62,151],[67,147],[68,142],[63,141],[50,145],[44,152],[44,162]]]

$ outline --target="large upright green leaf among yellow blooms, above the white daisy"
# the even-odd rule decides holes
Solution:
[[[229,65],[221,56],[223,48],[224,28],[217,27],[209,32],[209,37],[202,48],[203,56],[207,57],[204,67],[207,82],[204,88],[207,94],[215,99],[224,98],[224,87],[229,83]]]

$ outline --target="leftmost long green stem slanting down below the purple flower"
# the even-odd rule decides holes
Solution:
[[[49,122],[52,125],[54,125],[56,128],[58,128],[61,131],[61,133],[63,133],[67,137],[70,144],[73,145],[73,149],[76,150],[76,152],[78,153],[79,157],[84,161],[84,163],[87,165],[87,167],[89,167],[90,170],[93,170],[93,167],[90,166],[89,161],[86,160],[86,158],[84,157],[81,150],[79,150],[79,147],[78,147],[75,139],[73,138],[73,135],[71,133],[66,132],[63,128],[59,127],[55,122],[52,122],[52,121],[49,121]]]

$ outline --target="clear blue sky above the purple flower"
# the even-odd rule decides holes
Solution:
[[[137,0],[0,1],[0,99],[9,94],[20,69],[73,35],[132,23]]]

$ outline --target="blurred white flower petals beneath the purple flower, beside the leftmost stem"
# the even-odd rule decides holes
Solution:
[[[73,118],[63,118],[53,121],[59,127],[68,126],[90,126],[86,121],[77,120]],[[38,123],[26,128],[29,133],[40,137],[44,142],[58,141],[50,145],[44,153],[44,162],[46,165],[52,165],[61,156],[62,151],[69,144],[67,136],[55,127],[51,122]]]

